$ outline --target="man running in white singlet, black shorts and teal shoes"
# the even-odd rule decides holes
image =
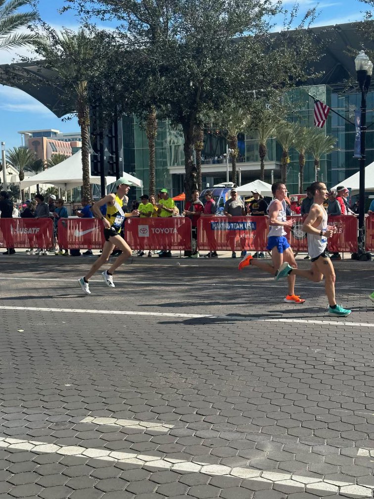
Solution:
[[[322,206],[328,198],[328,190],[323,182],[313,182],[310,186],[314,196],[314,204],[303,224],[303,231],[308,235],[308,253],[311,257],[312,268],[302,270],[293,268],[287,262],[279,267],[276,280],[289,277],[292,274],[300,275],[313,282],[322,281],[325,277],[325,291],[329,300],[329,315],[346,317],[352,310],[343,308],[335,300],[335,271],[327,250],[327,241],[336,233],[336,227],[327,225],[327,213]]]

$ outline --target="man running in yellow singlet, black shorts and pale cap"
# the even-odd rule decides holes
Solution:
[[[105,196],[103,199],[95,203],[92,207],[94,214],[103,221],[105,243],[103,252],[99,256],[99,258],[95,261],[86,275],[78,280],[80,287],[86,294],[91,294],[88,286],[89,278],[92,277],[93,274],[97,270],[99,270],[99,268],[102,267],[105,262],[108,261],[110,253],[114,250],[115,247],[117,247],[119,250],[122,250],[122,253],[116,258],[116,260],[108,268],[108,270],[105,270],[101,273],[105,284],[109,287],[115,287],[113,283],[113,272],[132,254],[130,246],[124,239],[121,238],[119,234],[125,218],[138,217],[139,215],[139,210],[134,210],[131,213],[125,213],[122,210],[124,198],[125,202],[128,201],[126,194],[129,192],[131,185],[132,184],[124,178],[118,179],[116,182],[117,193],[108,194],[108,196]],[[107,214],[104,217],[100,211],[100,207],[105,204],[107,205]]]

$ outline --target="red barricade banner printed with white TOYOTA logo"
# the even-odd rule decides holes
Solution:
[[[124,228],[125,240],[133,250],[191,249],[191,221],[186,217],[131,217]]]

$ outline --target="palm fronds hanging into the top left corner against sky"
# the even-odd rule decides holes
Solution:
[[[39,39],[37,34],[22,33],[35,20],[35,12],[17,12],[20,7],[29,5],[30,0],[0,0],[0,49],[19,48],[31,45]]]

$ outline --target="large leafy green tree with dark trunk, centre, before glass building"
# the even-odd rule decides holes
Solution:
[[[209,4],[196,0],[193,5],[190,0],[70,3],[83,16],[118,20],[116,35],[122,46],[133,50],[131,67],[126,57],[116,64],[122,65],[122,98],[134,103],[133,96],[145,89],[144,81],[157,88],[157,101],[146,97],[144,107],[151,101],[159,118],[167,117],[183,130],[187,198],[193,188],[194,131],[204,117],[231,102],[244,106],[254,89],[266,88],[271,93],[305,80],[306,62],[317,58],[312,33],[306,30],[291,31],[288,25],[275,40],[269,19],[280,13],[281,6],[270,0]],[[304,19],[301,27],[307,22]],[[102,86],[110,88],[112,79],[113,71]],[[155,96],[154,91],[151,94]]]

